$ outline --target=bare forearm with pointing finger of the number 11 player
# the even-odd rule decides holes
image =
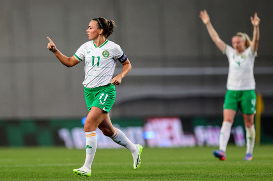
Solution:
[[[67,67],[72,67],[79,63],[79,61],[74,56],[68,57],[61,53],[61,51],[56,48],[56,45],[52,42],[52,40],[49,37],[47,37],[47,39],[49,40],[47,48],[55,54],[55,56],[60,60],[62,64]]]

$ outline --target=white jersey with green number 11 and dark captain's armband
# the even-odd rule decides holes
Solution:
[[[99,47],[94,41],[86,42],[78,48],[74,57],[78,61],[85,60],[85,78],[82,84],[86,88],[110,84],[117,60],[121,63],[127,60],[121,47],[108,40]]]

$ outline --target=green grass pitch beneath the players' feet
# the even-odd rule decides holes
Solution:
[[[144,147],[137,170],[128,150],[98,149],[88,179],[72,173],[84,163],[85,150],[0,148],[0,181],[273,180],[273,145],[256,146],[252,161],[243,161],[245,147],[228,145],[226,161],[214,158],[213,149]]]

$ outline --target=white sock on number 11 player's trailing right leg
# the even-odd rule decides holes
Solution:
[[[114,128],[114,130],[115,130],[114,135],[110,136],[113,139],[113,141],[126,147],[131,151],[131,153],[137,150],[136,144],[132,143],[121,130],[117,128]]]

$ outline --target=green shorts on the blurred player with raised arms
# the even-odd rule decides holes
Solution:
[[[239,109],[244,114],[254,114],[256,111],[255,90],[227,90],[223,109]]]

